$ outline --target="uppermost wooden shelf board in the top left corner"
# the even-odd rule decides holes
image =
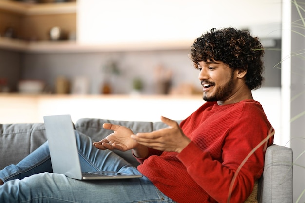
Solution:
[[[0,9],[21,15],[76,13],[77,3],[64,2],[30,4],[11,0],[0,0]]]

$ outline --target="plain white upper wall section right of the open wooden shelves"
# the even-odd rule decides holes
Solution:
[[[281,0],[78,0],[81,43],[192,42],[216,27],[280,37]]]

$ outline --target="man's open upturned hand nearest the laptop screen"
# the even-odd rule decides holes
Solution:
[[[114,125],[110,123],[103,124],[104,129],[110,129],[114,132],[102,139],[99,142],[94,142],[93,145],[98,149],[117,149],[127,151],[138,146],[138,143],[130,136],[133,131],[125,126]]]

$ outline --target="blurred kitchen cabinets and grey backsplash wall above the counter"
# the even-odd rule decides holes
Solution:
[[[280,0],[0,0],[1,91],[198,93],[189,48],[227,26],[272,48],[264,86],[279,87]]]

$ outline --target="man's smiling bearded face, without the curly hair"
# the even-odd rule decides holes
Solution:
[[[198,64],[199,80],[205,101],[228,100],[234,93],[234,71],[221,61],[201,61]]]

